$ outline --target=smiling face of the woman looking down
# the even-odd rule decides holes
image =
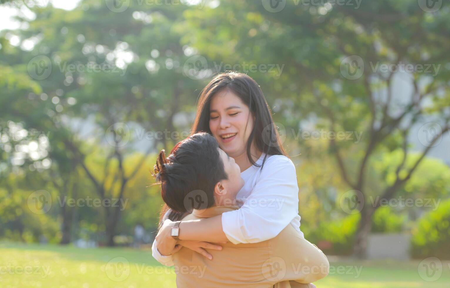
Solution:
[[[246,153],[254,123],[250,114],[248,106],[231,90],[219,91],[211,99],[209,129],[220,148],[231,157]]]

